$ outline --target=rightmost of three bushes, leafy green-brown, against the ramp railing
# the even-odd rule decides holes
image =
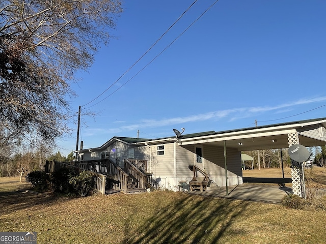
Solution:
[[[71,177],[69,183],[81,197],[86,196],[94,186],[93,176],[87,171],[80,172],[79,175]]]

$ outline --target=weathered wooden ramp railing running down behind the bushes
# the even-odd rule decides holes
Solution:
[[[76,166],[73,166],[71,164],[68,163],[63,163],[63,162],[58,162],[58,161],[46,161],[45,163],[45,172],[46,173],[52,173],[52,172],[56,172],[59,169],[62,168],[70,168],[72,169],[75,173],[80,173],[83,171],[87,171],[90,175],[93,176],[94,179],[94,190],[98,191],[102,194],[105,194],[105,181],[106,181],[106,177],[103,174],[100,173],[96,173],[93,171],[89,171],[89,170],[85,170],[83,168],[79,168]]]

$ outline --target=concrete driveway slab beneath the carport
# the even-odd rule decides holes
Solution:
[[[292,188],[289,187],[258,184],[229,186],[228,193],[229,194],[226,195],[226,187],[208,187],[207,191],[204,192],[199,190],[188,192],[188,194],[198,194],[209,197],[259,201],[274,204],[280,204],[285,195],[293,194]]]

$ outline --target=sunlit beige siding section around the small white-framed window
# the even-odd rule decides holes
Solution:
[[[164,155],[157,155],[157,146],[164,145]],[[174,176],[174,143],[152,145],[151,171],[155,178]]]

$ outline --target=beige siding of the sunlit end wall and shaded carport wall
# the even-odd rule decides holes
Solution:
[[[189,170],[189,165],[196,164],[198,167],[206,170],[210,178],[218,186],[226,186],[225,163],[224,163],[224,147],[214,147],[209,145],[185,145],[176,146],[176,177],[174,177],[173,162],[174,162],[174,147],[173,143],[166,148],[166,153],[169,152],[169,157],[156,157],[156,172],[153,174],[158,187],[169,190],[180,190],[180,181],[189,181],[193,178],[193,171]],[[195,163],[196,146],[202,146],[202,163]],[[156,153],[156,150],[155,152]],[[166,155],[168,156],[168,155]],[[154,157],[154,155],[153,155]],[[234,186],[242,184],[242,168],[241,168],[241,152],[234,148],[227,148],[227,170],[228,170],[228,185]],[[165,159],[165,160],[162,160]],[[186,189],[189,190],[187,186]]]

